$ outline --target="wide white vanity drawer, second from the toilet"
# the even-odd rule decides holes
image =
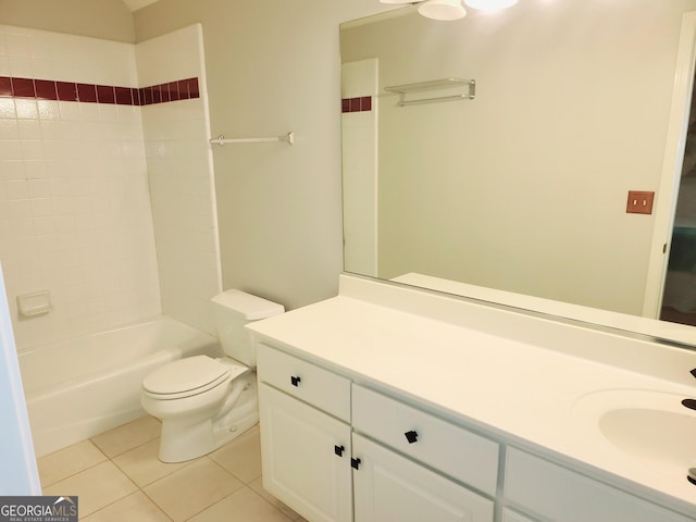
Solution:
[[[352,425],[412,459],[496,494],[498,445],[493,440],[358,385],[352,388]]]

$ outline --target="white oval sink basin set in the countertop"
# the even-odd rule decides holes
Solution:
[[[601,390],[581,397],[572,414],[588,436],[608,443],[647,472],[681,480],[696,467],[696,411],[681,403],[684,398],[641,389]]]

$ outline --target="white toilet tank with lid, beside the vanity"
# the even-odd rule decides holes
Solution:
[[[225,353],[243,364],[256,368],[256,349],[244,326],[252,321],[283,313],[283,304],[229,289],[213,297],[212,307],[217,337]]]

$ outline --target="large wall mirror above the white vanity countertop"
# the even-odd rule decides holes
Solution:
[[[646,302],[662,302],[694,10],[520,0],[453,22],[406,7],[343,24],[345,270],[659,318]],[[468,82],[409,90],[448,78],[475,80],[475,97]],[[654,212],[626,213],[630,190],[655,191]],[[696,274],[684,285],[696,296]]]

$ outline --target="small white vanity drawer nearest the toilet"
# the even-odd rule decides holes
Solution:
[[[259,381],[343,421],[350,421],[350,381],[302,359],[258,345]]]

